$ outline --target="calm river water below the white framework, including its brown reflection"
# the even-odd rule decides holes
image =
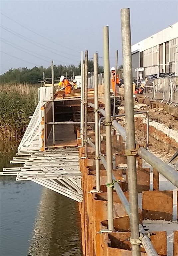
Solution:
[[[16,146],[0,145],[0,171]],[[1,256],[81,256],[77,202],[31,181],[0,176]]]

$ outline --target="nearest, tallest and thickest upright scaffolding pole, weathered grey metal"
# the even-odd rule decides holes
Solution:
[[[130,33],[130,10],[121,9],[121,31],[122,31],[122,56],[124,72],[124,99],[125,99],[125,130],[126,130],[126,156],[128,170],[128,191],[130,203],[130,243],[132,256],[140,256],[139,240],[139,215],[137,197],[137,174],[135,150],[135,126],[133,109],[133,86],[132,86],[132,55],[131,55],[131,33]]]

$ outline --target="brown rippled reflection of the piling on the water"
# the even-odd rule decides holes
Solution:
[[[78,204],[43,189],[29,256],[81,256]]]

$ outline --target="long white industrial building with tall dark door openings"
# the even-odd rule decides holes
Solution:
[[[133,77],[173,73],[178,63],[178,22],[132,45]]]

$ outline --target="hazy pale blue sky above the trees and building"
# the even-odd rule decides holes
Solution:
[[[110,66],[119,50],[120,9],[130,8],[132,44],[177,22],[177,0],[0,0],[0,73],[10,68],[76,65],[81,51],[98,51],[103,64],[102,28],[109,26]],[[24,40],[25,39],[25,40]]]

